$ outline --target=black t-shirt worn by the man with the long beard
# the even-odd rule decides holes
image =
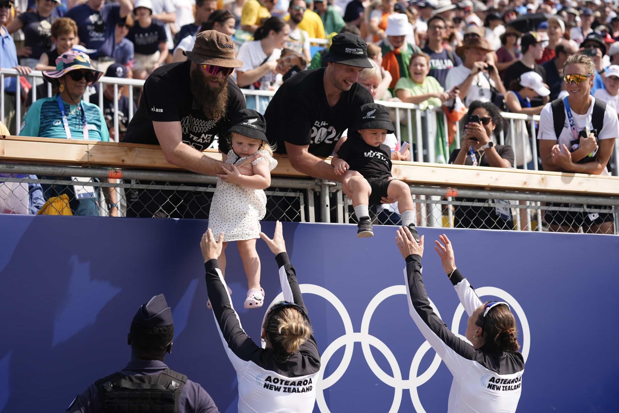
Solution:
[[[233,113],[245,109],[245,98],[235,81],[228,76],[226,115],[214,121],[206,118],[199,103],[194,102],[189,67],[191,61],[166,64],[146,79],[136,116],[129,123],[123,142],[158,145],[153,121],[177,121],[181,123],[183,142],[203,150],[210,146],[215,135],[230,127]],[[225,139],[220,139],[219,147],[224,154],[228,153]]]

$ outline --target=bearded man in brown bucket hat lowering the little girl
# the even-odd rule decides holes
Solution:
[[[232,38],[215,30],[199,33],[193,50],[184,54],[187,61],[159,67],[146,79],[123,142],[159,144],[168,162],[192,172],[217,175],[225,164],[201,151],[230,128],[236,112],[245,109],[245,98],[229,76],[243,63],[235,57]],[[219,145],[227,154],[226,139],[219,139]],[[207,192],[133,188],[128,191],[126,215],[205,219],[211,196]]]

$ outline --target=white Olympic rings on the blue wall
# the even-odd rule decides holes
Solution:
[[[334,306],[335,310],[337,310],[340,317],[342,318],[342,321],[344,322],[344,335],[332,341],[331,344],[327,346],[327,348],[324,350],[324,352],[322,352],[321,355],[321,370],[318,375],[318,380],[316,384],[316,403],[318,403],[318,408],[320,409],[321,413],[331,413],[324,399],[323,391],[324,389],[327,389],[337,383],[337,381],[340,380],[340,378],[342,378],[342,376],[346,372],[348,365],[350,364],[350,360],[352,360],[352,352],[355,342],[361,343],[361,349],[363,350],[365,360],[374,375],[376,375],[376,377],[386,385],[394,388],[394,399],[391,403],[389,413],[397,413],[400,408],[400,403],[402,402],[402,393],[404,393],[405,389],[409,390],[410,392],[410,399],[413,403],[413,407],[415,407],[415,411],[417,411],[418,413],[425,413],[425,410],[423,409],[422,403],[417,393],[417,387],[423,385],[423,383],[430,380],[430,378],[436,373],[436,370],[438,370],[438,367],[441,364],[441,358],[439,357],[439,355],[435,354],[434,359],[430,363],[430,367],[428,367],[427,370],[421,375],[417,375],[423,355],[425,355],[426,352],[431,349],[430,344],[427,341],[424,341],[413,356],[413,360],[410,363],[409,379],[406,380],[402,378],[400,366],[397,363],[396,357],[391,352],[389,347],[387,347],[387,345],[384,344],[384,342],[380,341],[377,337],[374,337],[369,333],[370,321],[372,315],[374,314],[374,311],[376,310],[376,308],[378,308],[378,305],[392,295],[406,295],[406,286],[392,285],[391,287],[387,287],[386,289],[376,294],[374,298],[370,300],[370,303],[368,304],[365,312],[363,313],[363,318],[361,319],[361,331],[359,333],[355,333],[355,331],[353,330],[352,321],[350,320],[348,311],[346,310],[344,304],[339,300],[339,298],[335,296],[334,293],[325,289],[324,287],[314,284],[300,284],[299,287],[302,293],[316,294],[322,298],[325,298],[329,303],[331,303],[331,305]],[[493,295],[494,297],[500,297],[504,302],[507,302],[511,306],[512,311],[516,313],[516,316],[519,318],[522,326],[522,356],[524,357],[524,361],[526,362],[527,357],[529,357],[531,336],[529,321],[527,321],[527,316],[524,314],[522,306],[508,292],[496,287],[480,287],[478,289],[475,289],[475,292],[477,292],[477,295],[479,295],[480,297],[482,297],[483,295]],[[271,305],[276,302],[280,302],[283,299],[284,294],[279,293],[279,295],[277,295],[277,297],[273,299]],[[438,308],[436,308],[436,305],[431,300],[430,304],[432,305],[432,308],[435,311],[436,315],[440,317],[441,315],[438,311]],[[451,322],[451,331],[457,336],[461,337],[461,339],[463,339],[464,341],[469,342],[466,337],[458,333],[458,327],[463,314],[464,307],[461,303],[459,303]],[[402,316],[406,315],[402,314]],[[412,326],[411,328],[416,327]],[[329,359],[331,359],[332,355],[342,346],[345,346],[342,362],[340,362],[340,365],[337,366],[335,371],[330,376],[325,378],[323,376],[325,366],[329,362]],[[379,367],[378,363],[376,363],[376,360],[374,360],[374,357],[370,350],[370,346],[373,346],[383,354],[383,356],[389,363],[392,375],[383,372],[383,370]]]

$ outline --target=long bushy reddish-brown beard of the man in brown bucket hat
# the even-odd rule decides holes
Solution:
[[[211,85],[201,69],[191,71],[191,94],[202,107],[204,116],[219,121],[226,115],[228,104],[228,78],[217,80],[217,85]]]

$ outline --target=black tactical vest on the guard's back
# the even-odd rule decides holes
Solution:
[[[114,373],[97,380],[103,412],[178,413],[187,376],[167,368],[154,375]]]

